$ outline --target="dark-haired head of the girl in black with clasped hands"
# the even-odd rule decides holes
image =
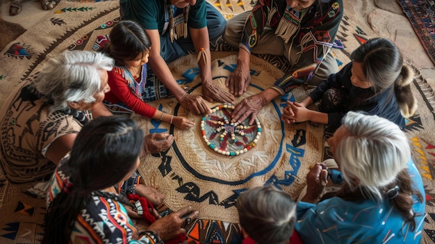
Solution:
[[[352,60],[351,81],[360,88],[372,88],[379,92],[394,86],[400,79],[403,57],[397,46],[386,38],[368,40],[350,55]]]

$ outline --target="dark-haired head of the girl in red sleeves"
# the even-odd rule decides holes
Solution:
[[[132,20],[122,20],[109,34],[108,54],[115,65],[139,67],[148,63],[151,40],[145,30]]]

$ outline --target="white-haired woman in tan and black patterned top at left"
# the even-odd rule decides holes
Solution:
[[[113,59],[104,54],[65,51],[14,90],[0,111],[0,161],[11,184],[47,193],[56,165],[83,124],[91,115],[111,115],[101,101],[110,90],[107,71],[112,68]],[[157,147],[145,139],[145,145]],[[172,141],[165,140],[165,147]]]

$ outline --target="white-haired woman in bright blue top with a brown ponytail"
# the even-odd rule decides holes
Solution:
[[[304,243],[420,243],[425,195],[409,142],[393,122],[349,112],[328,139],[344,182],[319,201],[325,165],[306,177],[295,229]]]

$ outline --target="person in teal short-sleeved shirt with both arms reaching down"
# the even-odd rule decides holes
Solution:
[[[211,76],[211,42],[224,33],[227,21],[206,0],[121,0],[122,19],[138,22],[151,40],[149,67],[171,90],[181,106],[197,114],[211,113],[204,101],[231,103],[234,96],[215,86]],[[167,63],[190,51],[198,55],[202,97],[188,95],[172,76]],[[204,98],[204,99],[202,99]]]

